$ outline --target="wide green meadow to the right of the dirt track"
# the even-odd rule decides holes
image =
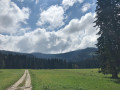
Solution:
[[[97,69],[30,70],[33,90],[120,90],[120,80]]]

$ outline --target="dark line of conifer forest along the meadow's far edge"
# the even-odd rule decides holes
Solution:
[[[95,58],[79,62],[66,62],[62,59],[42,59],[21,54],[0,53],[0,69],[78,69],[98,68],[99,63]]]

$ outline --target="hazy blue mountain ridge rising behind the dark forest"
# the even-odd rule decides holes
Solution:
[[[44,58],[44,59],[52,59],[52,58],[57,58],[57,59],[64,59],[68,62],[78,62],[78,61],[83,61],[88,58],[92,58],[95,56],[97,48],[86,48],[86,49],[81,49],[81,50],[76,50],[76,51],[71,51],[67,53],[60,53],[60,54],[43,54],[43,53],[18,53],[18,52],[10,52],[10,51],[3,51],[1,50],[1,53],[4,54],[22,54],[22,55],[27,55],[27,56],[35,56],[37,58]]]

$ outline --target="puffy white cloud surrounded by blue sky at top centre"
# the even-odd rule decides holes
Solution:
[[[47,29],[55,29],[64,25],[64,10],[61,6],[51,6],[40,14],[40,19],[37,22],[38,26],[48,24]]]

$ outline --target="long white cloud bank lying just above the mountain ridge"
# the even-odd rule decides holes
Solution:
[[[94,13],[73,19],[57,32],[35,29],[22,36],[0,35],[0,49],[20,52],[63,53],[86,47],[95,47],[97,30]]]

